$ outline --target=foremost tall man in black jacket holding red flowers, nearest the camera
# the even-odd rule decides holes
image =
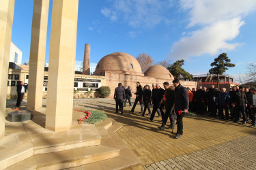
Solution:
[[[183,120],[185,113],[188,112],[189,97],[188,89],[180,84],[180,80],[173,80],[174,89],[174,107],[177,114],[177,134],[176,139],[183,135]]]

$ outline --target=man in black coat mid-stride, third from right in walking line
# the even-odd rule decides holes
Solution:
[[[156,95],[154,95],[154,98],[152,98],[154,104],[153,104],[153,111],[150,116],[150,121],[153,121],[157,109],[160,109],[160,113],[161,113],[161,115],[158,115],[158,116],[162,116],[162,119],[164,116],[164,109],[163,109],[164,104],[161,103],[161,101],[162,101],[162,97],[165,95],[165,90],[160,87],[160,84],[156,84],[156,89],[157,89]]]

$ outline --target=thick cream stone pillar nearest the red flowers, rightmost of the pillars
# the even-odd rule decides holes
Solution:
[[[63,131],[72,122],[79,0],[53,0],[46,129]]]

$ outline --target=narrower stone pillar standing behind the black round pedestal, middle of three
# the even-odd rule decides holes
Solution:
[[[34,1],[27,90],[28,110],[42,108],[48,8],[49,0]]]

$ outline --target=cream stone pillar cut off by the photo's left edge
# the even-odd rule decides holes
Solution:
[[[5,135],[5,107],[14,3],[14,0],[0,0],[0,139]]]

